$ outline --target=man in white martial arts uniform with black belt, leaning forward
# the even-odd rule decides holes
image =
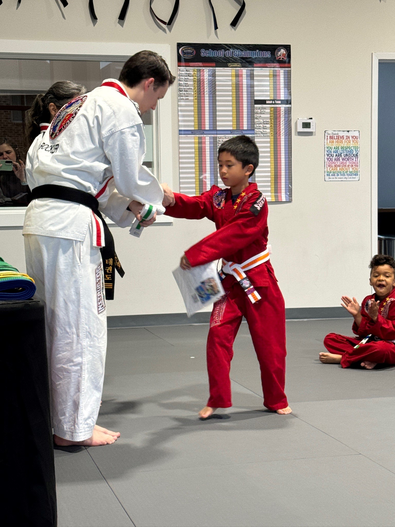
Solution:
[[[142,204],[161,214],[173,202],[169,187],[142,165],[141,120],[173,82],[162,57],[137,53],[119,81],[108,79],[65,104],[29,150],[26,177],[35,199],[23,227],[26,268],[46,309],[57,445],[104,445],[120,436],[96,425],[107,344],[105,297],[113,298],[115,268],[123,272],[101,213],[127,227],[142,219]]]

